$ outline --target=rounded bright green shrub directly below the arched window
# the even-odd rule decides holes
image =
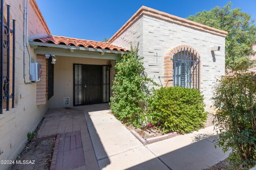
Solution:
[[[197,89],[160,88],[149,100],[148,116],[163,133],[198,130],[206,121],[204,98]]]

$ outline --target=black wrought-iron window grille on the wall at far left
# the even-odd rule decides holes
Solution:
[[[0,114],[3,109],[9,111],[10,98],[12,99],[12,108],[14,107],[15,90],[15,20],[10,19],[10,5],[6,5],[6,19],[4,14],[4,0],[0,1]],[[5,19],[5,20],[4,20]],[[12,27],[11,27],[12,23]],[[11,48],[12,47],[12,48]],[[10,53],[10,50],[12,52]],[[12,69],[10,68],[10,59],[12,57]],[[10,72],[12,71],[12,81],[10,81]],[[10,94],[10,83],[12,86]]]

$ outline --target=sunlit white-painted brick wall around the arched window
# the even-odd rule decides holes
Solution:
[[[113,44],[128,48],[129,41],[140,42],[140,55],[144,57],[144,66],[150,78],[158,84],[163,83],[164,56],[173,47],[188,45],[197,50],[201,56],[201,91],[205,98],[206,109],[212,105],[212,87],[216,79],[225,74],[225,37],[199,31],[177,23],[168,22],[152,16],[143,15],[139,20]],[[142,24],[141,24],[142,23]],[[141,30],[142,39],[134,36],[134,32]],[[211,46],[220,46],[220,51],[211,53]]]

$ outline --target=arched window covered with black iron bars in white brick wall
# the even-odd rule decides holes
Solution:
[[[194,50],[181,48],[173,58],[173,86],[197,88],[200,86],[200,58]]]

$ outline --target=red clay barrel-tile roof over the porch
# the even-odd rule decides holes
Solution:
[[[45,38],[36,38],[34,39],[34,41],[41,42],[41,43],[85,47],[85,48],[109,49],[109,50],[116,50],[120,52],[128,51],[123,47],[118,47],[105,42],[68,38],[68,37],[61,37],[61,36],[49,36]]]

